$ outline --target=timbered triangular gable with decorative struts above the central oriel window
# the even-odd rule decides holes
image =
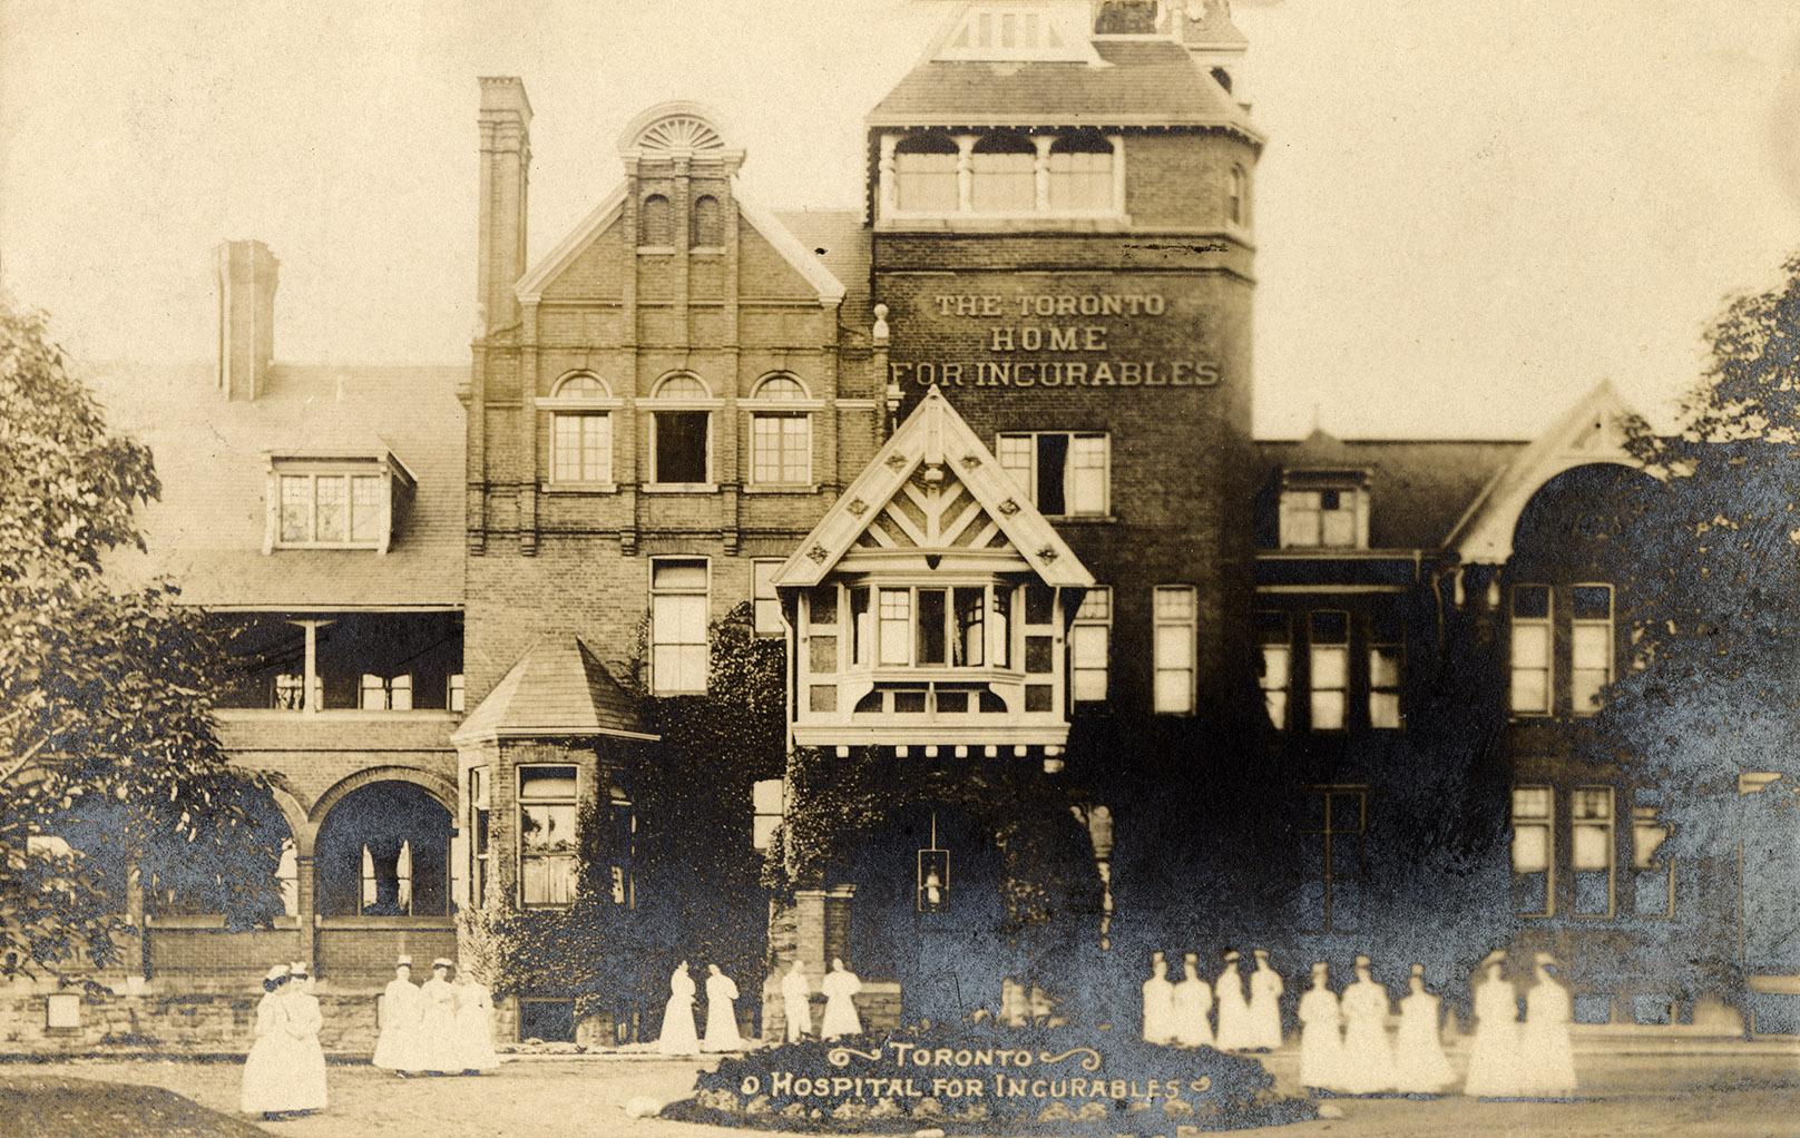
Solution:
[[[864,555],[977,558],[1030,567],[1046,585],[1094,583],[936,387],[776,571],[776,585],[817,585]]]

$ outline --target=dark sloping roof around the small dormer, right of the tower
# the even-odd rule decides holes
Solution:
[[[1489,481],[1526,447],[1519,439],[1337,439],[1314,430],[1305,439],[1258,439],[1264,484],[1282,468],[1357,468],[1370,472],[1368,544],[1372,549],[1442,549]],[[1274,546],[1274,495],[1258,499],[1260,544]]]

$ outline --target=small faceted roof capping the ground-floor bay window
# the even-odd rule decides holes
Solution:
[[[450,742],[535,735],[659,738],[643,729],[637,704],[571,632],[535,643],[488,699],[470,711]]]

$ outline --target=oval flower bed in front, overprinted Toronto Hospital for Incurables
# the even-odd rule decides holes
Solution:
[[[1112,1032],[963,1028],[790,1043],[695,1079],[664,1118],[779,1131],[1168,1134],[1318,1115],[1242,1055]]]

